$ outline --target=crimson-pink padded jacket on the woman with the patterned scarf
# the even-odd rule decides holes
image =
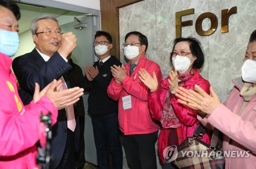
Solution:
[[[148,104],[150,105],[152,116],[156,120],[159,120],[161,118],[163,112],[164,99],[169,89],[168,79],[169,77],[165,78],[161,83],[159,93],[153,92],[150,93],[148,96]],[[195,74],[190,79],[184,82],[183,87],[185,89],[194,89],[195,85],[199,85],[203,90],[205,90],[209,94],[210,84],[208,80],[205,80],[199,74],[198,69],[196,69]],[[186,105],[180,104],[177,101],[177,99],[178,98],[175,95],[171,96],[170,104],[172,104],[174,112],[181,122],[180,142],[182,142],[186,137],[193,136],[194,130],[199,124],[199,121],[197,120],[197,111],[187,107]],[[163,163],[165,160],[163,157],[163,150],[167,146],[169,146],[168,139],[169,129],[162,128],[158,137],[158,152]],[[207,132],[203,135],[202,140],[208,144],[210,143],[210,137]]]

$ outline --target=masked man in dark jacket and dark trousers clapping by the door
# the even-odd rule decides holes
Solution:
[[[99,61],[86,66],[82,88],[90,91],[88,112],[92,117],[94,142],[97,150],[98,166],[100,168],[122,168],[122,147],[119,139],[118,103],[109,98],[106,90],[113,78],[111,66],[121,66],[117,58],[110,54],[113,47],[109,33],[97,31],[94,40],[94,50]],[[109,161],[109,153],[112,163]]]

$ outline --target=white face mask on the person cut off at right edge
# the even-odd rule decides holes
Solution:
[[[242,66],[242,78],[244,81],[256,83],[256,61],[247,59]]]

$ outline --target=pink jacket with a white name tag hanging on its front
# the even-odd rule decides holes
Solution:
[[[158,124],[150,114],[147,104],[148,88],[139,79],[139,70],[144,68],[152,75],[156,72],[158,82],[162,80],[160,67],[155,62],[146,59],[145,55],[139,60],[131,77],[129,76],[130,65],[126,64],[125,69],[128,76],[118,85],[115,78],[108,87],[108,95],[118,102],[119,128],[125,135],[147,134],[158,131]],[[122,97],[131,95],[132,108],[123,109]]]

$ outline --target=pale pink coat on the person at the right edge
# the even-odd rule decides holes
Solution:
[[[241,77],[232,81],[235,86],[225,103],[203,120],[223,132],[223,151],[249,151],[249,157],[225,157],[225,168],[256,168],[256,94],[238,115],[243,103],[243,82]]]

